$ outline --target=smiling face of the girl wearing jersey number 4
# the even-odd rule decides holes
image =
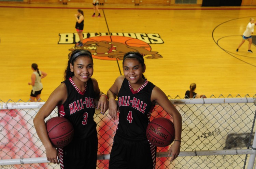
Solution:
[[[136,58],[126,58],[123,64],[125,78],[130,82],[131,86],[141,86],[144,83],[142,74],[145,72],[146,66]]]

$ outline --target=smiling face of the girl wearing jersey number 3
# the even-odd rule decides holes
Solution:
[[[70,63],[70,70],[74,72],[72,79],[75,83],[87,82],[93,75],[93,60],[88,56],[79,56],[74,65]]]

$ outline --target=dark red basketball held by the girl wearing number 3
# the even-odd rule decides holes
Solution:
[[[56,148],[67,146],[73,139],[74,128],[64,117],[53,117],[46,121],[48,136]]]

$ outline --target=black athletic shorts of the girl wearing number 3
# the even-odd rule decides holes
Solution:
[[[63,151],[62,151],[63,150]],[[96,169],[98,153],[97,131],[88,138],[72,140],[72,142],[59,149],[60,167],[63,169]]]

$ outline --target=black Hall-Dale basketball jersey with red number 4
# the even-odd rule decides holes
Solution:
[[[147,80],[133,91],[125,78],[117,95],[119,106],[119,123],[116,134],[128,139],[146,139],[146,128],[155,105],[151,94],[155,85]]]

